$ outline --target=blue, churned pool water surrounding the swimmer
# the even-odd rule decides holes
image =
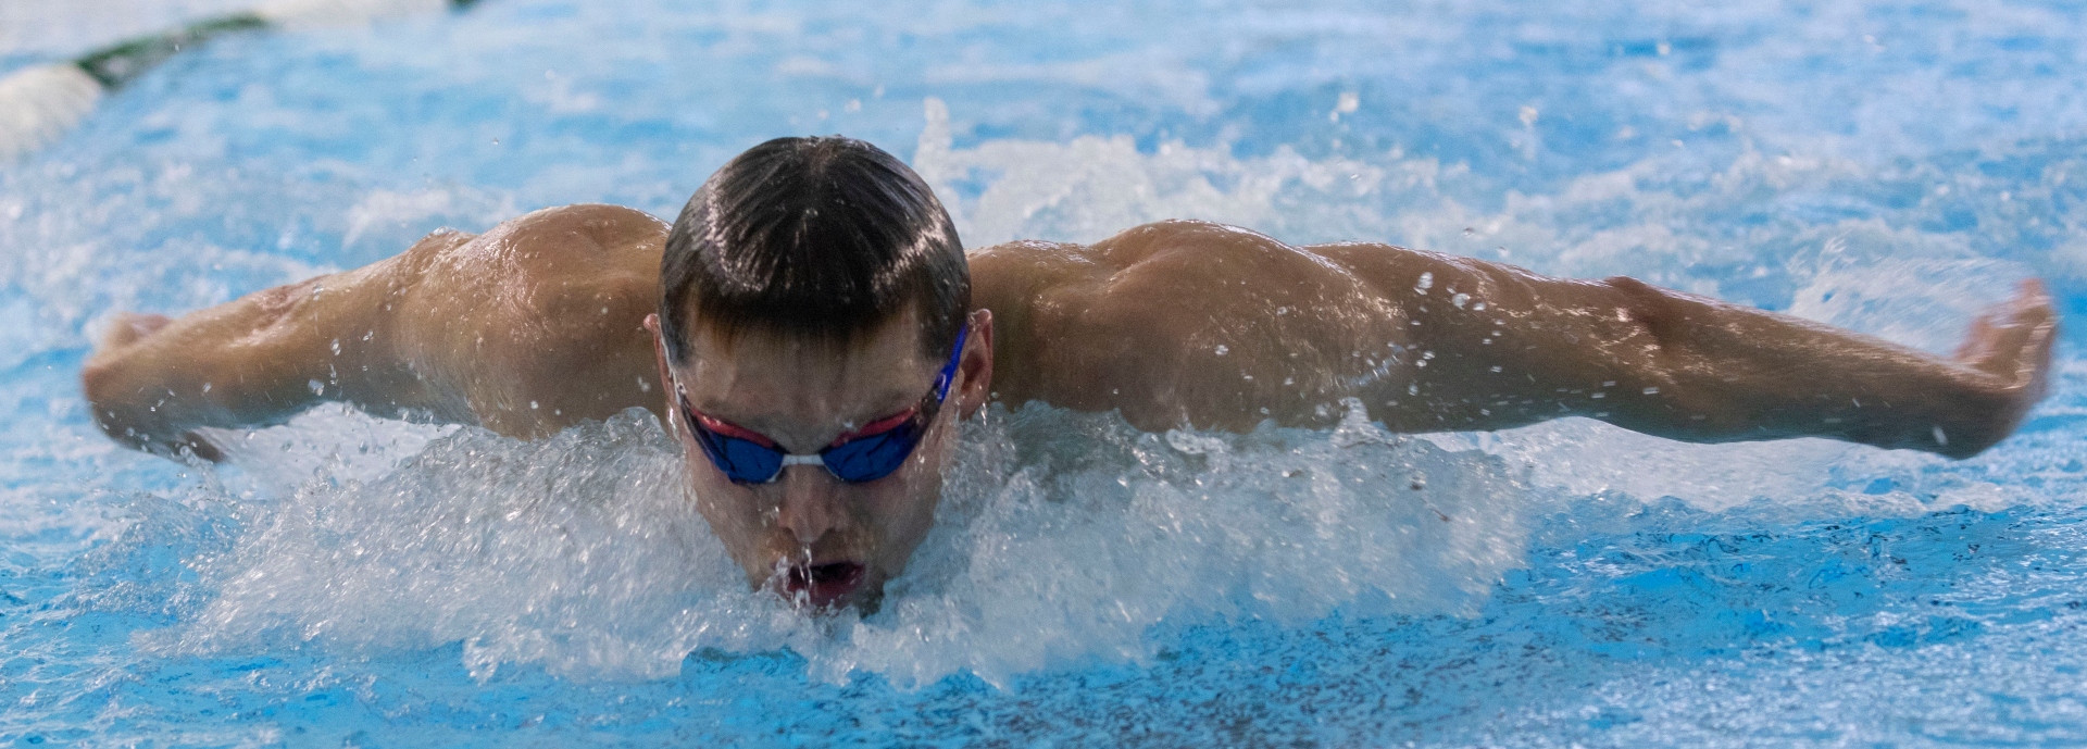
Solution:
[[[8,0],[0,71],[230,2]],[[0,741],[2081,745],[2087,367],[1970,461],[1503,434],[968,424],[870,620],[743,590],[649,417],[319,409],[127,453],[77,369],[455,225],[672,215],[843,131],[970,246],[1162,217],[1630,273],[1947,353],[2087,313],[2062,2],[484,0],[227,38],[0,165]]]

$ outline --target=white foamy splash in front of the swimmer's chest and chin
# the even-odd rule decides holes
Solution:
[[[826,680],[1006,682],[1146,659],[1165,626],[1469,611],[1521,561],[1528,492],[1496,459],[1359,413],[1334,432],[1160,436],[1031,407],[968,424],[964,444],[935,532],[868,620],[747,590],[682,494],[674,442],[632,409],[545,442],[461,430],[280,499],[219,490],[250,528],[190,559],[202,603],[148,645],[463,643],[480,678],[657,678],[701,647],[789,647]]]

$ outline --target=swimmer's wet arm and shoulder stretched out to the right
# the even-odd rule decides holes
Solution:
[[[973,257],[995,390],[1146,430],[1392,430],[1586,415],[1697,442],[1828,436],[1968,457],[2045,390],[2056,317],[2031,282],[1956,359],[1628,277],[1555,280],[1384,244],[1292,248],[1198,221]]]

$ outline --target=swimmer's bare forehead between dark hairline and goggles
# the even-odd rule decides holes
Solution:
[[[776,430],[774,438],[904,411],[935,378],[910,311],[847,344],[766,330],[726,340],[703,325],[691,325],[687,344],[674,376],[689,405],[751,430]]]

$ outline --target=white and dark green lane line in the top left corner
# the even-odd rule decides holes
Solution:
[[[0,163],[35,152],[77,127],[102,96],[136,81],[186,48],[227,33],[363,25],[478,0],[278,0],[253,10],[123,40],[69,63],[31,65],[0,77]]]

